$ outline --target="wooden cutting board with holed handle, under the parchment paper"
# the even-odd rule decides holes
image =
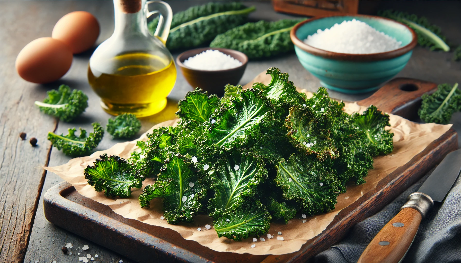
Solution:
[[[421,95],[437,87],[431,82],[396,78],[380,88],[359,105],[376,105],[410,120],[417,117]],[[249,255],[213,251],[199,243],[184,240],[177,232],[151,226],[115,214],[109,207],[77,193],[74,187],[62,182],[44,195],[44,210],[48,221],[103,245],[138,262],[216,262],[216,263],[278,263],[305,262],[308,258],[334,245],[349,228],[372,216],[396,196],[418,181],[447,153],[457,149],[458,137],[453,129],[433,141],[407,164],[379,181],[349,207],[341,210],[330,225],[299,251],[285,255]]]

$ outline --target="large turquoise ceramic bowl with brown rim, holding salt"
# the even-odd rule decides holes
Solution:
[[[353,18],[402,41],[402,47],[384,53],[346,54],[322,50],[303,42],[318,29],[329,29],[335,23]],[[375,90],[396,76],[407,64],[418,41],[413,29],[408,26],[387,18],[366,15],[309,19],[296,24],[290,36],[296,55],[307,71],[319,78],[325,88],[349,94]]]

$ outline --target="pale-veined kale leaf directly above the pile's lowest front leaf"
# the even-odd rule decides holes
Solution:
[[[233,152],[213,164],[208,174],[212,176],[214,190],[209,210],[216,213],[236,207],[243,196],[254,196],[255,187],[267,177],[267,170],[259,158]]]

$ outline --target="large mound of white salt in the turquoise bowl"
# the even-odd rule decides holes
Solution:
[[[402,45],[395,38],[355,19],[336,23],[323,31],[318,29],[317,33],[307,36],[304,43],[323,50],[348,54],[381,53],[395,50]]]

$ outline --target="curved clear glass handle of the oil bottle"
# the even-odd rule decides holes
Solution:
[[[154,36],[158,37],[163,42],[163,44],[165,44],[166,39],[168,38],[168,34],[170,34],[171,20],[173,19],[173,11],[171,10],[171,6],[165,3],[164,1],[148,1],[146,8],[148,8],[148,5],[150,4],[154,6],[155,10],[147,12],[147,17],[150,17],[151,15],[156,13],[160,13],[159,24],[157,25],[157,29],[155,29]]]

